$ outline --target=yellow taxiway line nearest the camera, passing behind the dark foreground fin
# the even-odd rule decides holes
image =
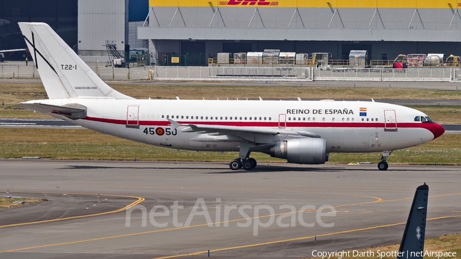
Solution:
[[[445,217],[431,218],[431,219],[427,219],[427,220],[439,220],[439,219],[459,218],[459,217],[461,217],[461,215],[454,215],[454,216],[445,216]],[[376,229],[376,228],[392,227],[392,226],[403,225],[403,224],[406,224],[406,222],[393,223],[393,224],[387,224],[387,225],[381,225],[381,226],[374,226],[374,227],[367,227],[367,228],[358,228],[358,229],[344,230],[344,231],[338,231],[338,232],[332,232],[332,233],[325,233],[325,234],[318,234],[318,235],[316,235],[316,236],[329,236],[329,235],[345,234],[345,233],[352,233],[352,232],[358,232],[358,231],[364,231],[364,230],[371,230],[371,229]],[[257,243],[257,244],[251,244],[251,245],[243,245],[243,246],[234,246],[234,247],[225,247],[225,248],[213,249],[213,250],[209,250],[209,252],[211,253],[211,252],[219,252],[219,251],[226,251],[226,250],[234,250],[234,249],[241,249],[241,248],[248,248],[248,247],[255,247],[255,246],[272,245],[272,244],[285,243],[285,242],[291,242],[291,241],[299,241],[299,240],[313,239],[314,237],[315,237],[314,235],[302,236],[301,238],[284,239],[284,240],[276,240],[276,241],[270,241],[270,242],[265,242],[265,243]],[[189,254],[177,254],[177,255],[169,255],[169,256],[163,256],[163,257],[155,257],[154,259],[176,258],[176,257],[191,256],[191,255],[197,255],[197,254],[204,254],[204,253],[207,253],[207,252],[208,252],[208,250],[206,250],[206,251],[199,251],[199,252],[195,252],[195,253],[189,253]]]

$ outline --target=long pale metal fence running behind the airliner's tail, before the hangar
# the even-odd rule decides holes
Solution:
[[[312,67],[130,67],[94,65],[104,80],[194,80],[194,81],[414,81],[461,82],[460,68],[365,69]],[[0,64],[0,77],[39,78],[35,66]]]

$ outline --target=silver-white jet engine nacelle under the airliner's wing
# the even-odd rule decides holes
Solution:
[[[288,139],[276,142],[262,150],[271,157],[286,159],[294,164],[324,164],[326,160],[326,140],[316,138]]]

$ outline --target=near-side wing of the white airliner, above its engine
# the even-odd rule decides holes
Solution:
[[[237,126],[224,126],[224,125],[203,125],[203,124],[180,124],[172,119],[167,119],[171,122],[174,128],[179,126],[186,126],[181,132],[194,132],[194,133],[214,133],[213,135],[228,135],[228,134],[267,134],[267,135],[290,135],[302,136],[309,138],[320,138],[320,135],[306,132],[306,131],[289,131],[282,129],[264,128],[264,127],[237,127]]]

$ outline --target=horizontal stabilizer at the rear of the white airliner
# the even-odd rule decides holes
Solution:
[[[87,117],[87,108],[77,103],[59,106],[39,102],[21,102],[18,105],[39,113],[59,114],[73,120]]]

